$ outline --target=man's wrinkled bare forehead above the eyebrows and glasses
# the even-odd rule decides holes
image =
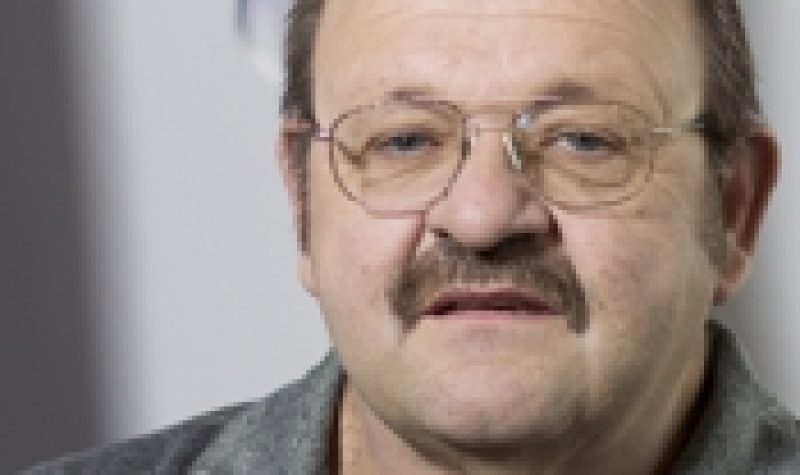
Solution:
[[[393,90],[525,99],[559,84],[680,113],[704,69],[689,0],[328,0],[317,38],[321,119]]]

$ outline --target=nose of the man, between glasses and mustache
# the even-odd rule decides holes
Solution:
[[[477,141],[447,195],[428,211],[426,224],[434,235],[489,249],[514,235],[554,229],[548,206],[518,173],[518,157],[499,135]]]

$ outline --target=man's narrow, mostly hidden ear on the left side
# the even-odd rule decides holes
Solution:
[[[304,183],[303,172],[304,170],[299,167],[304,164],[299,163],[297,160],[298,154],[303,147],[303,140],[306,140],[307,127],[294,116],[285,116],[281,119],[280,131],[278,133],[278,143],[276,147],[276,156],[278,158],[278,167],[280,169],[283,185],[289,194],[289,202],[292,207],[292,222],[294,224],[295,233],[297,234],[298,243],[300,243],[300,253],[298,255],[298,274],[300,282],[305,289],[312,296],[317,296],[317,278],[314,272],[314,266],[311,259],[307,243],[303,242],[306,235],[306,209],[307,199]],[[307,151],[308,152],[308,151]],[[306,178],[307,179],[307,178]]]

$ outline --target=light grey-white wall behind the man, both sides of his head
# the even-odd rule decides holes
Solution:
[[[74,1],[107,437],[256,397],[327,347],[297,284],[273,163],[278,91],[246,60],[233,4]],[[792,187],[800,184],[792,43],[800,4],[746,0],[746,10],[767,110],[784,140],[784,179],[754,284],[722,318],[767,383],[800,410],[800,195]]]

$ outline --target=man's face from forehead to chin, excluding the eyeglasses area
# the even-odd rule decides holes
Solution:
[[[330,1],[316,51],[318,119],[330,124],[396,89],[422,88],[470,109],[567,82],[636,106],[654,123],[682,124],[703,102],[693,18],[683,1]],[[668,398],[702,360],[716,273],[699,238],[708,179],[696,135],[658,149],[652,179],[631,201],[580,212],[520,186],[498,134],[481,136],[445,199],[402,217],[349,201],[327,147],[311,154],[305,285],[353,388],[396,431],[469,443],[603,430],[644,401]],[[585,304],[582,324],[486,302],[447,318],[423,312],[412,324],[397,313],[398,282],[424,280],[420,269],[435,273],[451,261],[470,267],[461,278],[483,278],[432,280],[424,295],[412,286],[403,298],[426,308],[453,290],[489,299],[541,290],[535,279],[523,285],[518,273],[465,257],[492,249],[511,262],[550,256],[541,265],[557,267],[563,298]]]

